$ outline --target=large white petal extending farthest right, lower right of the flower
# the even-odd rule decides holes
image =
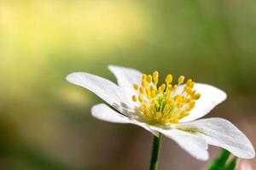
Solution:
[[[207,140],[208,144],[229,150],[240,158],[250,159],[255,156],[253,145],[231,122],[222,118],[201,119],[194,122],[177,123],[175,127],[195,129],[196,133]]]

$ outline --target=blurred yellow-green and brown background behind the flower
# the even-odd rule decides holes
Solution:
[[[152,135],[92,118],[90,107],[102,100],[65,80],[87,71],[115,81],[108,65],[183,74],[224,89],[229,98],[209,116],[234,122],[256,146],[255,6],[2,0],[0,169],[147,169]],[[211,159],[217,154],[211,147]],[[160,169],[206,166],[164,139]]]

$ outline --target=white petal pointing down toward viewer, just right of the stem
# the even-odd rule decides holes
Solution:
[[[183,132],[177,129],[161,129],[166,137],[173,139],[183,150],[189,152],[196,159],[206,161],[209,158],[208,146],[205,139],[192,133]]]

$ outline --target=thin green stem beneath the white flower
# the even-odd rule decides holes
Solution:
[[[159,134],[159,137],[154,136],[149,170],[158,169],[158,159],[160,155],[161,139],[162,139],[161,133]]]

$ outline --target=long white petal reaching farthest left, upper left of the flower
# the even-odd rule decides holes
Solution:
[[[129,114],[129,109],[133,107],[131,99],[126,98],[123,90],[105,78],[85,72],[74,72],[67,76],[67,81],[89,89],[124,114]]]

